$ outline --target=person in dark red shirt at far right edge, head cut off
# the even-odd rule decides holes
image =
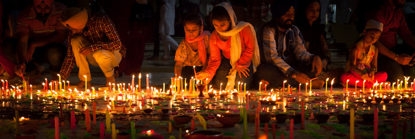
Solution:
[[[402,12],[405,1],[385,0],[377,10],[367,13],[366,19],[383,24],[379,40],[374,44],[379,50],[378,69],[388,74],[387,81],[404,80],[404,76],[415,77],[413,65],[415,37],[409,30]],[[398,35],[403,44],[398,44]]]

